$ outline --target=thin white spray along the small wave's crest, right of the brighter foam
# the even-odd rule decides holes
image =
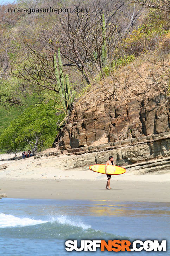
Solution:
[[[57,221],[59,224],[67,224],[70,226],[75,226],[75,227],[81,227],[84,230],[87,230],[88,228],[91,228],[90,225],[86,225],[83,222],[81,222],[80,220],[77,219],[77,221],[75,222],[72,218],[70,218],[69,216],[59,216],[56,218],[52,218],[52,222],[53,221]]]

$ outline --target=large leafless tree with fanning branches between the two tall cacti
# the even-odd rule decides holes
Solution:
[[[112,37],[114,27],[107,26],[107,38]],[[45,37],[45,41],[51,50],[60,47],[62,56],[67,60],[64,65],[75,66],[90,84],[90,76],[94,76],[93,64],[96,62],[94,53],[96,47],[101,51],[103,44],[101,17],[96,16],[96,12],[78,16],[68,15],[53,24],[52,29],[46,29],[46,31],[48,37]],[[49,37],[52,39],[49,40]],[[41,40],[44,41],[44,38]]]

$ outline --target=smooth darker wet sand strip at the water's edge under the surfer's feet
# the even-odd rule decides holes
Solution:
[[[106,180],[1,179],[0,194],[10,198],[169,202],[168,182],[111,180],[111,190],[105,185]]]

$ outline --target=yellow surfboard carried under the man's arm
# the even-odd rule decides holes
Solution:
[[[90,165],[89,169],[93,172],[106,174],[105,165]],[[125,173],[125,168],[116,165],[107,165],[107,173],[112,175],[119,175]]]

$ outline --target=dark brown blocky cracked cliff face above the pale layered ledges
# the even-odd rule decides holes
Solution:
[[[170,106],[162,93],[127,102],[106,100],[91,108],[77,107],[72,118],[77,123],[67,124],[53,147],[80,148],[101,138],[109,143],[170,131]]]

